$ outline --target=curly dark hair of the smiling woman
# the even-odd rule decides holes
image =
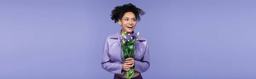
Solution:
[[[117,21],[122,19],[124,14],[126,12],[132,12],[135,14],[136,20],[138,22],[140,21],[140,15],[144,15],[145,12],[141,10],[140,8],[137,8],[136,6],[132,5],[131,3],[125,4],[123,6],[116,6],[112,11],[111,11],[111,19],[117,23]]]

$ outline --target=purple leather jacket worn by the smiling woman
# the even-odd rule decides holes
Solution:
[[[103,69],[116,74],[123,74],[125,72],[122,70],[122,64],[125,59],[123,58],[121,43],[119,42],[119,37],[121,37],[120,33],[121,31],[116,34],[108,35],[105,40],[101,61]],[[140,35],[135,48],[136,51],[132,57],[135,62],[134,71],[143,73],[147,71],[150,66],[147,40]]]

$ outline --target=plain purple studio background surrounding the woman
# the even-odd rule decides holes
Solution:
[[[1,0],[0,79],[112,79],[102,48],[126,3],[146,12],[144,79],[256,78],[256,0]]]

